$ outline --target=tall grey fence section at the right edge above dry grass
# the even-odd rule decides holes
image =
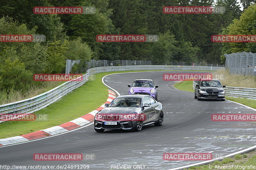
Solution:
[[[226,66],[230,74],[256,75],[256,53],[224,54]]]

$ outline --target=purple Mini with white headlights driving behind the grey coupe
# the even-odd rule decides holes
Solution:
[[[152,79],[135,79],[132,83],[132,87],[128,84],[129,95],[139,94],[139,95],[149,95],[154,97],[157,100],[157,90],[158,85],[154,85],[154,81]]]

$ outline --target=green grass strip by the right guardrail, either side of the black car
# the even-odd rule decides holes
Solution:
[[[174,85],[174,87],[176,87],[177,89],[180,89],[180,90],[194,92],[195,90],[193,89],[192,85],[193,85],[193,81],[182,81],[182,82],[176,83]],[[226,99],[237,102],[237,103],[241,103],[241,104],[244,104],[246,106],[256,109],[256,101],[255,100],[228,97],[228,96],[226,96]]]

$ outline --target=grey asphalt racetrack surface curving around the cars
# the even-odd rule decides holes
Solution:
[[[108,170],[111,165],[145,165],[145,169],[167,170],[201,161],[166,161],[163,153],[207,152],[213,158],[220,154],[251,147],[256,143],[255,122],[213,122],[213,113],[256,113],[230,101],[197,101],[194,94],[167,86],[164,73],[199,73],[157,71],[112,74],[104,82],[121,95],[136,78],[151,78],[163,104],[163,126],[149,125],[140,132],[105,130],[97,133],[93,125],[41,140],[0,147],[0,165],[90,165],[89,169]],[[203,72],[200,72],[200,74]],[[34,161],[34,153],[94,154],[95,160]],[[135,168],[131,168],[135,169]]]

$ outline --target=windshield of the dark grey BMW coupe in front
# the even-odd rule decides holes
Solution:
[[[141,98],[138,97],[120,97],[115,98],[109,107],[140,107]]]

